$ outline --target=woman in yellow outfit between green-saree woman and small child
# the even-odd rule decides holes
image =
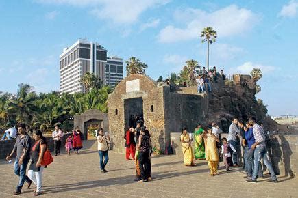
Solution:
[[[208,133],[206,134],[204,132],[201,137],[206,138],[206,160],[208,161],[210,175],[215,176],[219,165],[219,153],[217,152],[216,142],[220,141],[214,134],[212,134],[212,128],[208,128],[207,131]]]

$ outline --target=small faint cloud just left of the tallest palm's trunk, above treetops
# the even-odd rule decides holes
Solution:
[[[185,66],[188,57],[184,55],[164,55],[163,62],[171,65],[171,72],[179,72]]]

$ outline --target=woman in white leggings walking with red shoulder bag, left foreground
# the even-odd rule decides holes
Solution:
[[[42,136],[42,132],[40,130],[35,130],[33,132],[33,138],[35,140],[35,144],[32,147],[31,152],[31,163],[29,165],[28,177],[36,186],[36,190],[34,190],[34,196],[38,196],[41,194],[42,188],[42,173],[45,169],[45,166],[41,165],[42,158],[45,154],[45,150],[47,149],[47,141],[45,137]]]

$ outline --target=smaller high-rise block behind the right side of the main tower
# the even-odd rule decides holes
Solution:
[[[123,59],[108,57],[105,63],[105,85],[115,87],[123,79]]]

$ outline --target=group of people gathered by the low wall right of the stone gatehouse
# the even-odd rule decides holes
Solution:
[[[232,119],[229,126],[227,138],[221,138],[223,131],[212,122],[207,128],[197,124],[194,130],[194,137],[188,133],[187,128],[182,129],[180,141],[182,153],[184,155],[184,165],[195,166],[194,160],[207,160],[210,175],[217,175],[220,168],[220,158],[223,159],[225,170],[230,171],[230,167],[240,167],[241,153],[243,147],[243,169],[246,173],[246,182],[255,183],[257,178],[263,177],[262,164],[268,169],[271,179],[267,182],[277,182],[277,178],[266,150],[266,135],[262,124],[258,124],[255,117],[250,117],[245,123],[237,118]],[[194,141],[195,152],[191,147]]]

